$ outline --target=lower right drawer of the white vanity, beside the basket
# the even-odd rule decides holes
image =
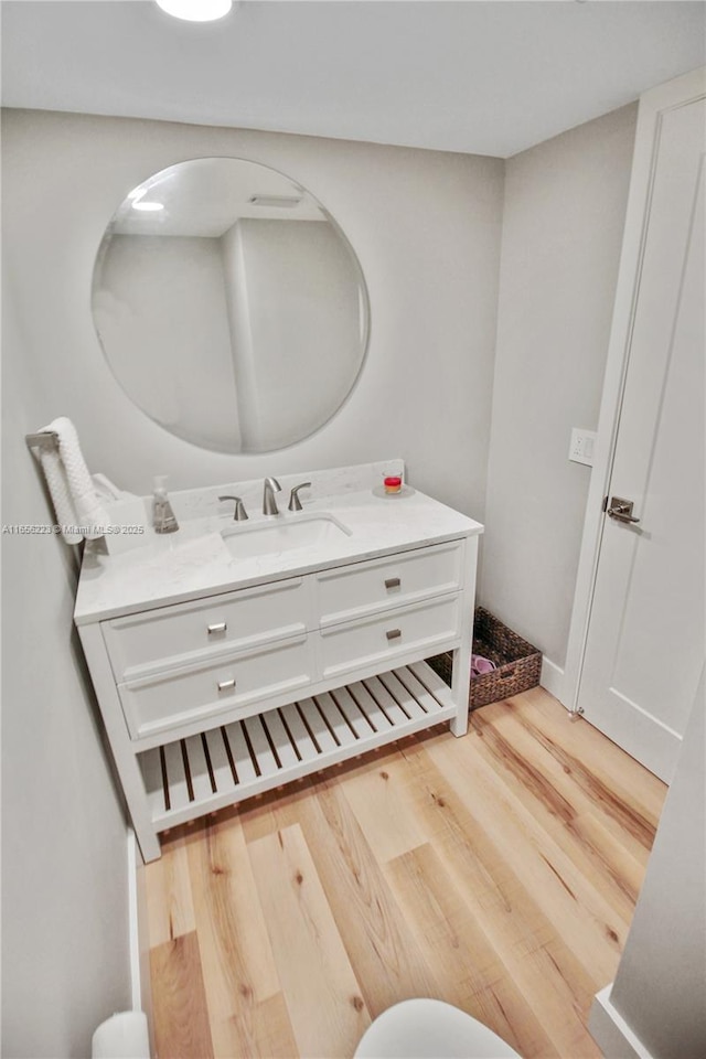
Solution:
[[[460,593],[441,596],[416,607],[321,629],[323,678],[386,660],[394,665],[396,656],[422,652],[427,645],[434,654],[440,643],[459,635],[461,598]]]

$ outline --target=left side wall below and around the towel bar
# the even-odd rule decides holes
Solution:
[[[24,434],[55,406],[7,289],[2,323],[2,523],[47,523]],[[95,1026],[130,1006],[126,825],[72,632],[75,577],[61,538],[2,535],[8,1059],[85,1059]]]

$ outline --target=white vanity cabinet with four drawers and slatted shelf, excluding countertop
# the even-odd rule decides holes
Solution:
[[[468,724],[477,536],[78,624],[146,860],[178,824]],[[424,659],[454,651],[449,688]]]

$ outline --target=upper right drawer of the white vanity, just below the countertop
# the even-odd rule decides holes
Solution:
[[[463,581],[463,541],[450,541],[315,574],[321,627],[458,591]]]

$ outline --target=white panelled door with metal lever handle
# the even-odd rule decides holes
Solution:
[[[621,265],[627,367],[578,693],[586,719],[667,782],[705,652],[700,96],[653,115],[640,249]]]

